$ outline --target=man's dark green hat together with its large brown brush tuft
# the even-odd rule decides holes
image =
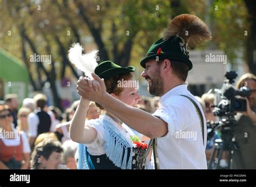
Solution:
[[[145,68],[149,60],[177,60],[184,62],[191,70],[187,47],[193,47],[211,39],[207,25],[197,16],[183,14],[174,17],[164,30],[164,37],[154,42],[140,65]]]

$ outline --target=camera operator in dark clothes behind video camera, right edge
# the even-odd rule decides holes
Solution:
[[[242,75],[236,87],[250,88],[251,95],[246,98],[246,112],[239,112],[235,117],[237,126],[234,137],[239,149],[233,152],[232,169],[256,169],[256,76],[250,73]]]

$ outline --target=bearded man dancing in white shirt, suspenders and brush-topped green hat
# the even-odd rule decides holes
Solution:
[[[151,95],[160,96],[152,115],[126,105],[106,92],[102,77],[92,74],[78,81],[78,93],[102,105],[126,125],[142,133],[153,148],[148,169],[207,169],[206,121],[200,104],[187,90],[192,69],[187,46],[210,40],[205,23],[193,15],[173,18],[164,37],[156,41],[140,62]]]

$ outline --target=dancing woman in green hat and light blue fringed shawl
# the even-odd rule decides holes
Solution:
[[[95,74],[105,80],[107,93],[135,108],[141,99],[137,85],[122,87],[120,84],[122,81],[135,82],[133,71],[134,67],[123,68],[111,61],[101,62],[95,68]],[[79,143],[78,169],[144,169],[145,159],[140,157],[146,151],[145,143],[108,110],[99,119],[86,120],[89,104],[90,100],[80,98],[69,130],[71,140]]]

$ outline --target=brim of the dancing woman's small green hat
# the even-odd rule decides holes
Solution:
[[[101,74],[99,74],[98,76],[100,78],[104,78],[104,80],[107,80],[111,77],[114,77],[120,74],[125,74],[125,73],[132,73],[134,71],[135,71],[135,68],[133,66],[129,66],[126,68],[118,67],[118,68],[107,69],[103,71]]]

